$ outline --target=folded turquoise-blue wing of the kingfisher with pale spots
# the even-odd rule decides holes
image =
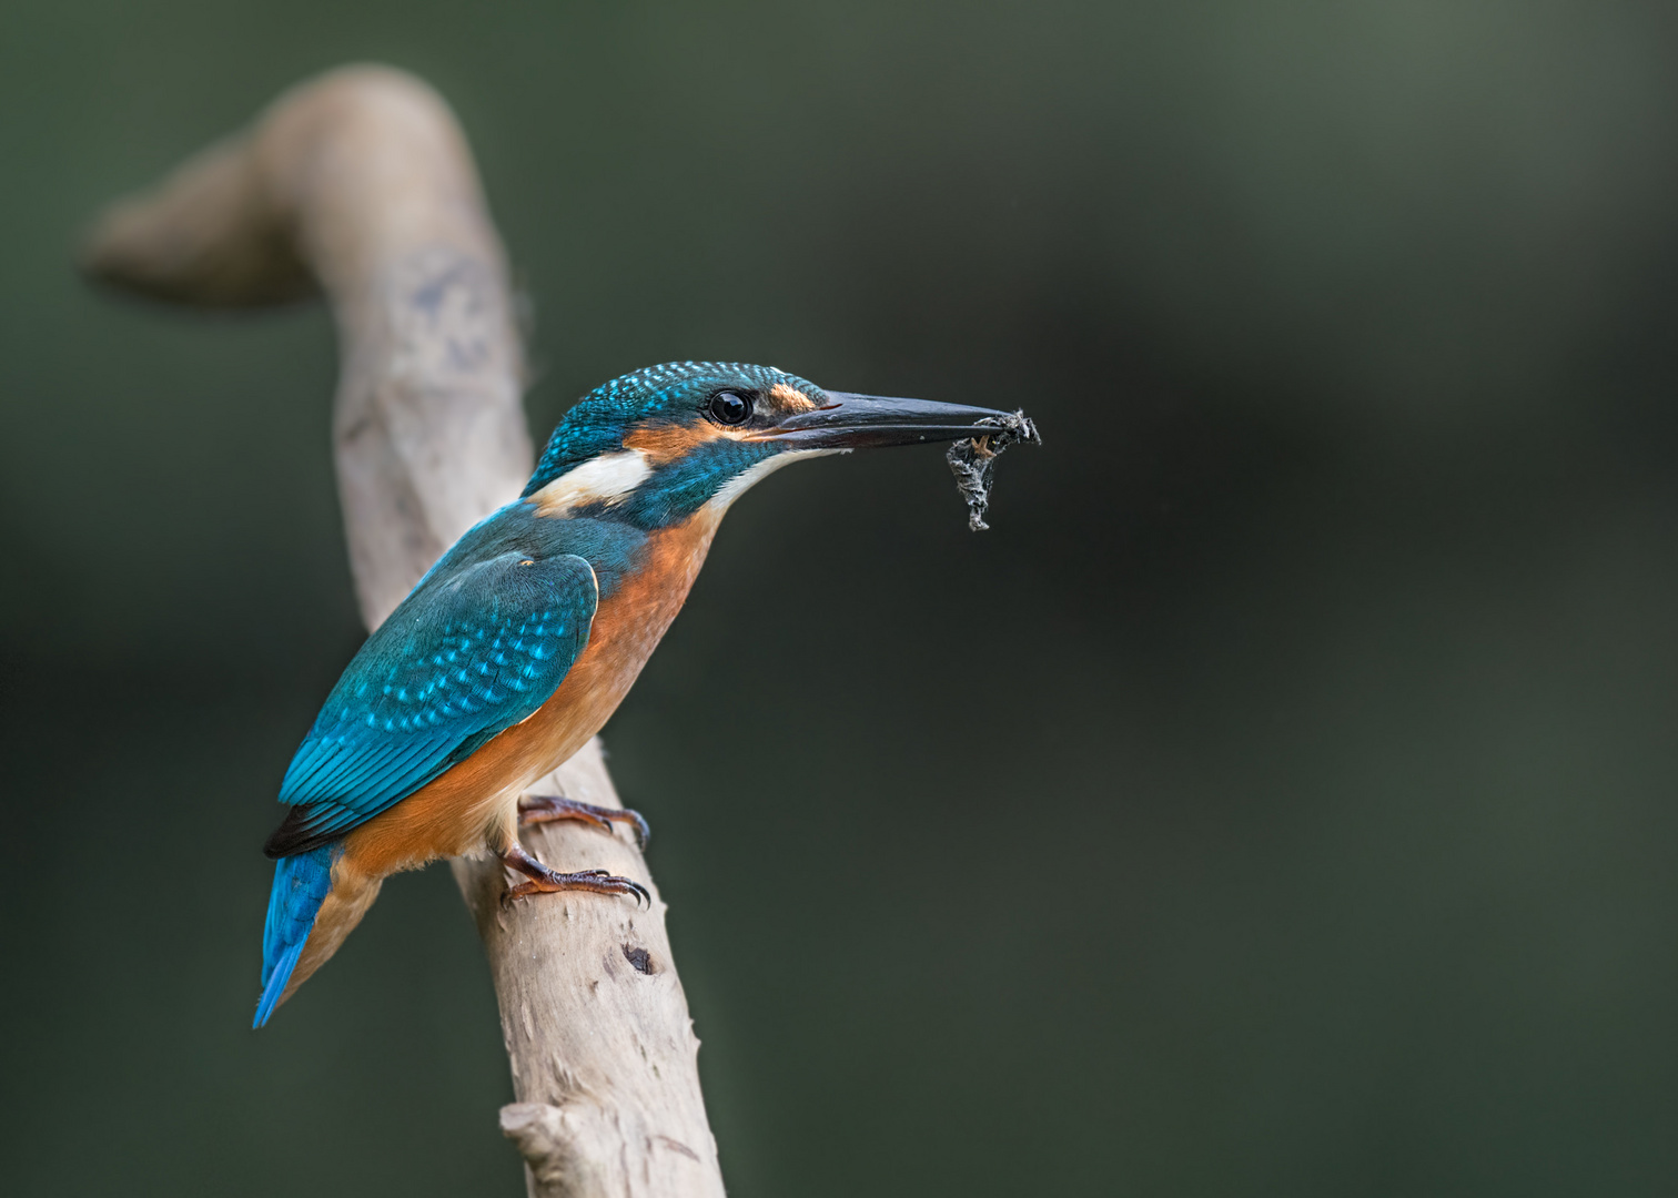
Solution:
[[[344,669],[285,770],[267,852],[307,852],[534,715],[589,639],[582,557],[507,552],[426,576]]]

